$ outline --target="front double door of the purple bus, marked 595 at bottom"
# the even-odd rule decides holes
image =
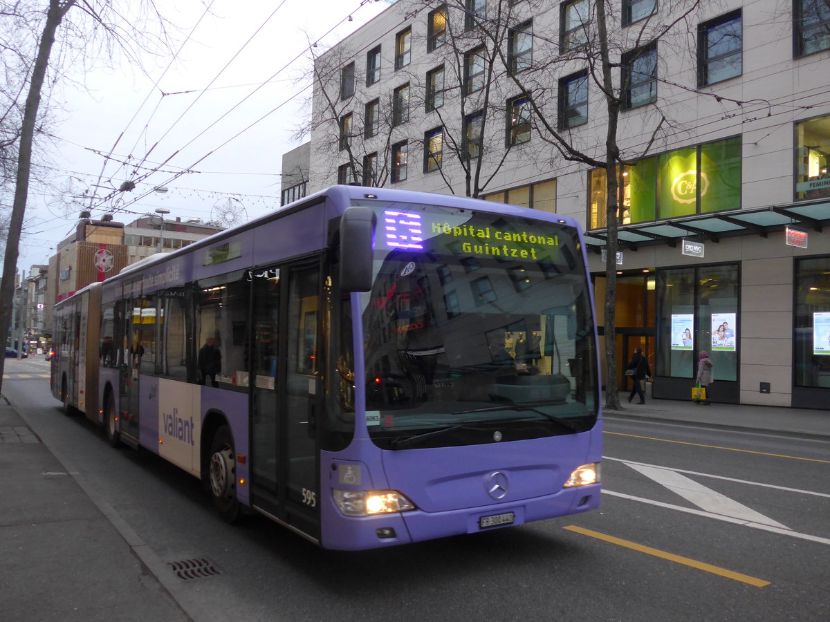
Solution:
[[[315,405],[320,397],[320,268],[254,270],[252,280],[253,502],[319,538]]]

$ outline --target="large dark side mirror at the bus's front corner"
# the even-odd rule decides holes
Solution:
[[[376,222],[369,207],[347,207],[340,218],[340,291],[344,294],[372,289]]]

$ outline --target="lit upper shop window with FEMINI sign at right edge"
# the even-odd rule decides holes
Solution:
[[[830,116],[795,124],[795,198],[830,197]]]

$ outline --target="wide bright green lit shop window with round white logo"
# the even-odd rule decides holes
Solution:
[[[619,223],[740,209],[741,138],[676,149],[618,168]],[[606,226],[605,169],[588,173],[590,228]]]

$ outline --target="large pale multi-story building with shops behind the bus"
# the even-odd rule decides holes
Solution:
[[[575,216],[608,338],[612,172],[618,360],[685,398],[706,350],[716,401],[830,408],[830,4],[604,4],[399,0],[315,59],[308,192]]]

